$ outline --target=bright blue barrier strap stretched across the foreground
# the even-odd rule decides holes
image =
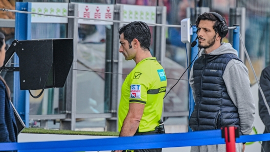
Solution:
[[[56,135],[57,136],[57,135]],[[245,135],[236,142],[254,142],[270,140],[270,134]],[[199,131],[191,133],[145,135],[121,138],[0,143],[1,150],[21,151],[98,151],[118,149],[144,149],[224,144],[221,131]]]

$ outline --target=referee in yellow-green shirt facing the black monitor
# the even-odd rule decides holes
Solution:
[[[167,79],[163,67],[150,53],[149,27],[145,22],[134,21],[120,28],[119,34],[119,52],[126,60],[136,62],[121,89],[119,136],[159,134]],[[160,152],[162,148],[115,151]]]

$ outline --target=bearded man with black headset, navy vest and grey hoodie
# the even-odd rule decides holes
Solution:
[[[255,118],[255,104],[246,66],[230,43],[221,43],[228,33],[225,20],[217,13],[204,13],[196,21],[201,56],[190,72],[195,100],[189,125],[193,131],[215,130],[237,125],[249,135]],[[236,151],[245,144],[237,143]],[[192,152],[226,152],[226,145],[193,146]]]

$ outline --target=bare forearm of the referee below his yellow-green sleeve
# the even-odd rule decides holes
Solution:
[[[144,104],[130,103],[127,116],[123,122],[123,126],[119,137],[133,136],[140,124],[144,112]]]

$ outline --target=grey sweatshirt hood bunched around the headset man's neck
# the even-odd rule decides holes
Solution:
[[[201,54],[206,54],[205,49],[202,48]],[[235,50],[230,43],[221,43],[217,49],[213,50],[209,55],[222,55],[222,54],[234,54],[238,57],[238,52]]]

